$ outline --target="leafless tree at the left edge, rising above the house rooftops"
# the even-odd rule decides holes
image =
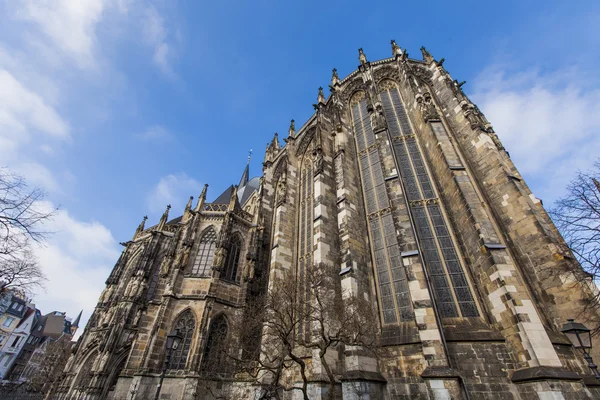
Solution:
[[[0,292],[24,292],[42,285],[44,276],[33,256],[32,243],[49,235],[42,229],[55,210],[43,207],[44,192],[0,168]]]

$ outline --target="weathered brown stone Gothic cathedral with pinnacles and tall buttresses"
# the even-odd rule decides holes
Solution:
[[[246,169],[211,203],[205,188],[183,216],[144,219],[49,398],[153,398],[174,328],[184,340],[161,399],[205,398],[199,377],[227,321],[312,265],[338,266],[347,293],[377,304],[392,354],[337,349],[337,397],[597,398],[560,333],[567,318],[586,322],[591,289],[561,273],[579,267],[541,202],[443,60],[422,53],[392,41],[391,58],[369,62],[361,49],[285,145],[273,138],[260,178]],[[242,379],[210,384],[260,393]],[[309,391],[326,388],[315,379]]]

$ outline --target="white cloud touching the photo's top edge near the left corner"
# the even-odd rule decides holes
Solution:
[[[103,0],[28,0],[16,16],[39,29],[79,66],[94,66],[96,25],[105,8]]]

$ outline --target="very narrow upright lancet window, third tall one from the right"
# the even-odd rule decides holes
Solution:
[[[299,234],[298,243],[298,285],[299,296],[305,296],[308,304],[310,296],[308,285],[308,273],[313,265],[313,220],[314,220],[314,167],[312,156],[312,145],[308,146],[300,168],[300,212],[299,212]],[[300,320],[304,320],[304,312],[300,310]],[[308,340],[310,338],[310,324],[308,320],[298,326],[298,339]]]

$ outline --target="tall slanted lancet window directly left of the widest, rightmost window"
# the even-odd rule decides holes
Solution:
[[[364,93],[355,94],[351,104],[382,320],[384,324],[409,321],[413,312],[406,272]]]

